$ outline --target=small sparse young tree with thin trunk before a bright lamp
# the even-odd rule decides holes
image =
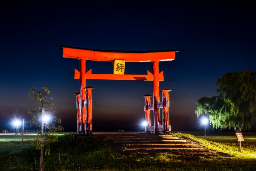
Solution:
[[[35,139],[32,144],[36,145],[36,149],[41,150],[40,155],[40,171],[42,171],[43,166],[43,158],[44,158],[44,147],[45,155],[50,154],[50,143],[58,141],[58,136],[55,134],[56,131],[64,130],[63,127],[58,125],[57,127],[53,125],[49,125],[49,122],[44,122],[44,116],[47,115],[49,119],[53,119],[55,122],[61,123],[61,119],[57,119],[54,113],[57,113],[56,107],[52,107],[53,103],[45,100],[49,96],[50,91],[47,87],[43,87],[42,90],[38,91],[35,88],[31,88],[29,93],[29,99],[35,99],[35,101],[40,101],[40,105],[35,108],[35,110],[29,110],[28,113],[33,114],[33,118],[29,121],[30,126],[41,127],[41,130],[37,130],[38,136],[41,136],[41,140],[39,137]],[[44,123],[45,126],[49,129],[48,133],[44,133]]]

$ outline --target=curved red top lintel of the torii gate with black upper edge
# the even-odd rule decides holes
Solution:
[[[89,61],[114,61],[122,59],[125,62],[151,62],[172,61],[175,59],[177,49],[152,50],[152,51],[120,51],[85,49],[60,45],[63,50],[63,58],[85,59]]]

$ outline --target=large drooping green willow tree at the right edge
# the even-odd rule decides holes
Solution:
[[[256,123],[256,72],[227,72],[217,81],[217,94],[202,97],[195,114],[209,116],[213,128],[249,130]]]

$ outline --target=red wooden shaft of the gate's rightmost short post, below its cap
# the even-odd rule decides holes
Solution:
[[[163,90],[163,131],[168,131],[167,125],[169,125],[169,106],[166,105],[166,101],[169,101],[169,90]]]

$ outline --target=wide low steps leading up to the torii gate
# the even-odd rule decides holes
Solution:
[[[172,135],[122,134],[107,136],[113,141],[113,146],[127,154],[172,153],[186,155],[209,155],[209,150],[186,139]]]

